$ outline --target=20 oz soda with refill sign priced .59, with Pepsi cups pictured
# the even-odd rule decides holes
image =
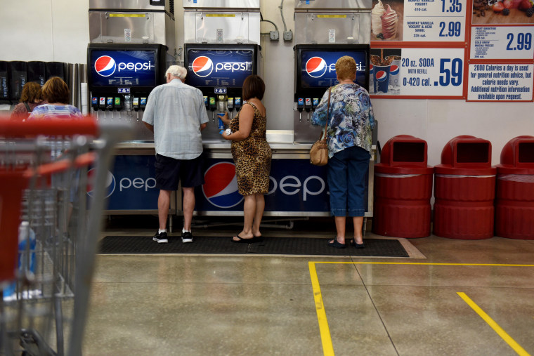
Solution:
[[[372,63],[372,91],[375,94],[422,97],[463,95],[464,48],[402,48],[401,51],[398,72],[396,68],[392,69],[395,67],[393,64],[388,68],[384,62],[382,66]],[[376,62],[376,57],[371,55],[371,61]],[[387,72],[389,77],[387,89],[381,83],[386,75],[382,72]]]

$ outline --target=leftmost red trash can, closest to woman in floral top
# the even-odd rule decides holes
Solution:
[[[391,138],[375,164],[372,230],[391,237],[430,235],[432,174],[426,141],[409,135]]]

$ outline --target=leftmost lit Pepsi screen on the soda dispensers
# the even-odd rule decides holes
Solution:
[[[93,50],[90,55],[91,85],[156,86],[156,51]]]

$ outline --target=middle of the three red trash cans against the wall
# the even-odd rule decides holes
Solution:
[[[434,235],[493,237],[496,171],[488,140],[457,136],[443,147],[434,167]]]

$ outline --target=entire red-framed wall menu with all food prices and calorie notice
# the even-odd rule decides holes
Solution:
[[[373,0],[372,98],[532,101],[526,1]]]

